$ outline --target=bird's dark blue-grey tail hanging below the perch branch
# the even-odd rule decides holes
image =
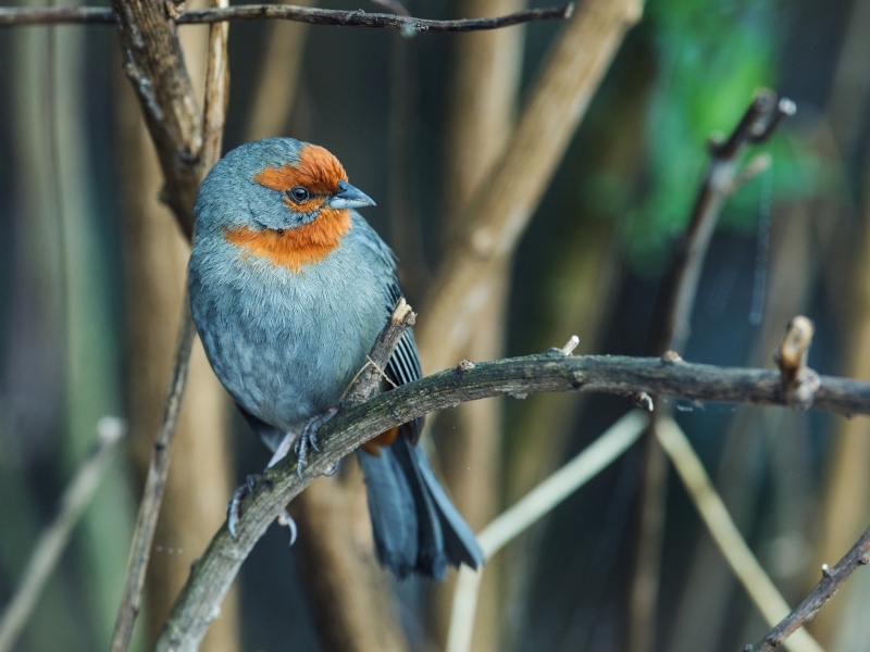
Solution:
[[[483,565],[469,525],[438,482],[422,446],[399,436],[381,455],[358,451],[377,560],[402,578],[444,579],[447,564]]]

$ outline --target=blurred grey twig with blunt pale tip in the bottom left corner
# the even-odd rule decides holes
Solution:
[[[116,417],[105,416],[97,424],[97,448],[63,492],[58,515],[39,536],[15,593],[0,617],[0,652],[9,652],[15,644],[126,429],[126,424]]]

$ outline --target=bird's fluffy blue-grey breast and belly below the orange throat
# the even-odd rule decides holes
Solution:
[[[197,242],[194,321],[233,398],[284,430],[337,404],[387,318],[388,272],[378,267],[349,237],[299,272],[243,256],[222,238]]]

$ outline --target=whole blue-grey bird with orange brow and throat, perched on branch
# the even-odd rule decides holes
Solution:
[[[402,298],[396,256],[356,211],[374,203],[330,151],[294,138],[227,152],[200,186],[191,316],[215,375],[273,452],[270,465],[293,446],[301,471]],[[411,329],[384,373],[396,386],[422,377]],[[448,565],[476,569],[484,559],[420,444],[422,425],[382,434],[357,459],[378,562],[399,578],[444,579]]]

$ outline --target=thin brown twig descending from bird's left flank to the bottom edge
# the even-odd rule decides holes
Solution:
[[[151,450],[148,478],[145,481],[142,500],[139,503],[139,513],[136,517],[136,530],[133,534],[133,544],[129,551],[129,561],[127,562],[127,576],[121,607],[119,609],[115,628],[112,634],[111,652],[126,652],[127,648],[129,648],[136,616],[138,616],[141,609],[145,573],[148,569],[148,561],[151,557],[151,543],[154,539],[157,518],[160,515],[160,505],[166,487],[172,443],[178,424],[178,413],[182,410],[182,398],[187,383],[187,372],[190,367],[190,350],[194,346],[195,333],[194,321],[190,317],[190,305],[185,291],[172,376],[163,406],[163,419]]]

